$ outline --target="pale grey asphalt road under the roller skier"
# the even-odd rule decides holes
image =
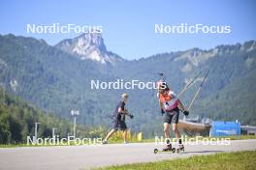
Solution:
[[[0,170],[78,170],[176,157],[256,150],[256,139],[235,140],[225,145],[187,145],[179,154],[153,154],[155,143],[97,146],[22,147],[0,149]]]

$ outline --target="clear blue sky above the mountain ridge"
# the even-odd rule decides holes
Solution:
[[[44,39],[54,45],[78,35],[27,34],[27,24],[100,25],[108,50],[125,59],[139,59],[193,47],[209,49],[256,40],[255,16],[254,0],[2,0],[0,34]],[[181,23],[228,25],[231,33],[155,33],[155,24]]]

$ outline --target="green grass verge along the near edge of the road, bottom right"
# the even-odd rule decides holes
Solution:
[[[255,170],[255,162],[256,151],[245,151],[109,166],[94,170]]]

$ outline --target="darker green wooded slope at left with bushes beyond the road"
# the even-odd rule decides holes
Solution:
[[[35,105],[7,94],[0,89],[0,144],[26,143],[27,136],[35,135],[35,123],[38,127],[38,137],[52,137],[52,128],[59,138],[67,138],[73,134],[73,122],[48,113]],[[78,126],[77,137],[103,137],[106,129],[103,127],[85,128]]]

